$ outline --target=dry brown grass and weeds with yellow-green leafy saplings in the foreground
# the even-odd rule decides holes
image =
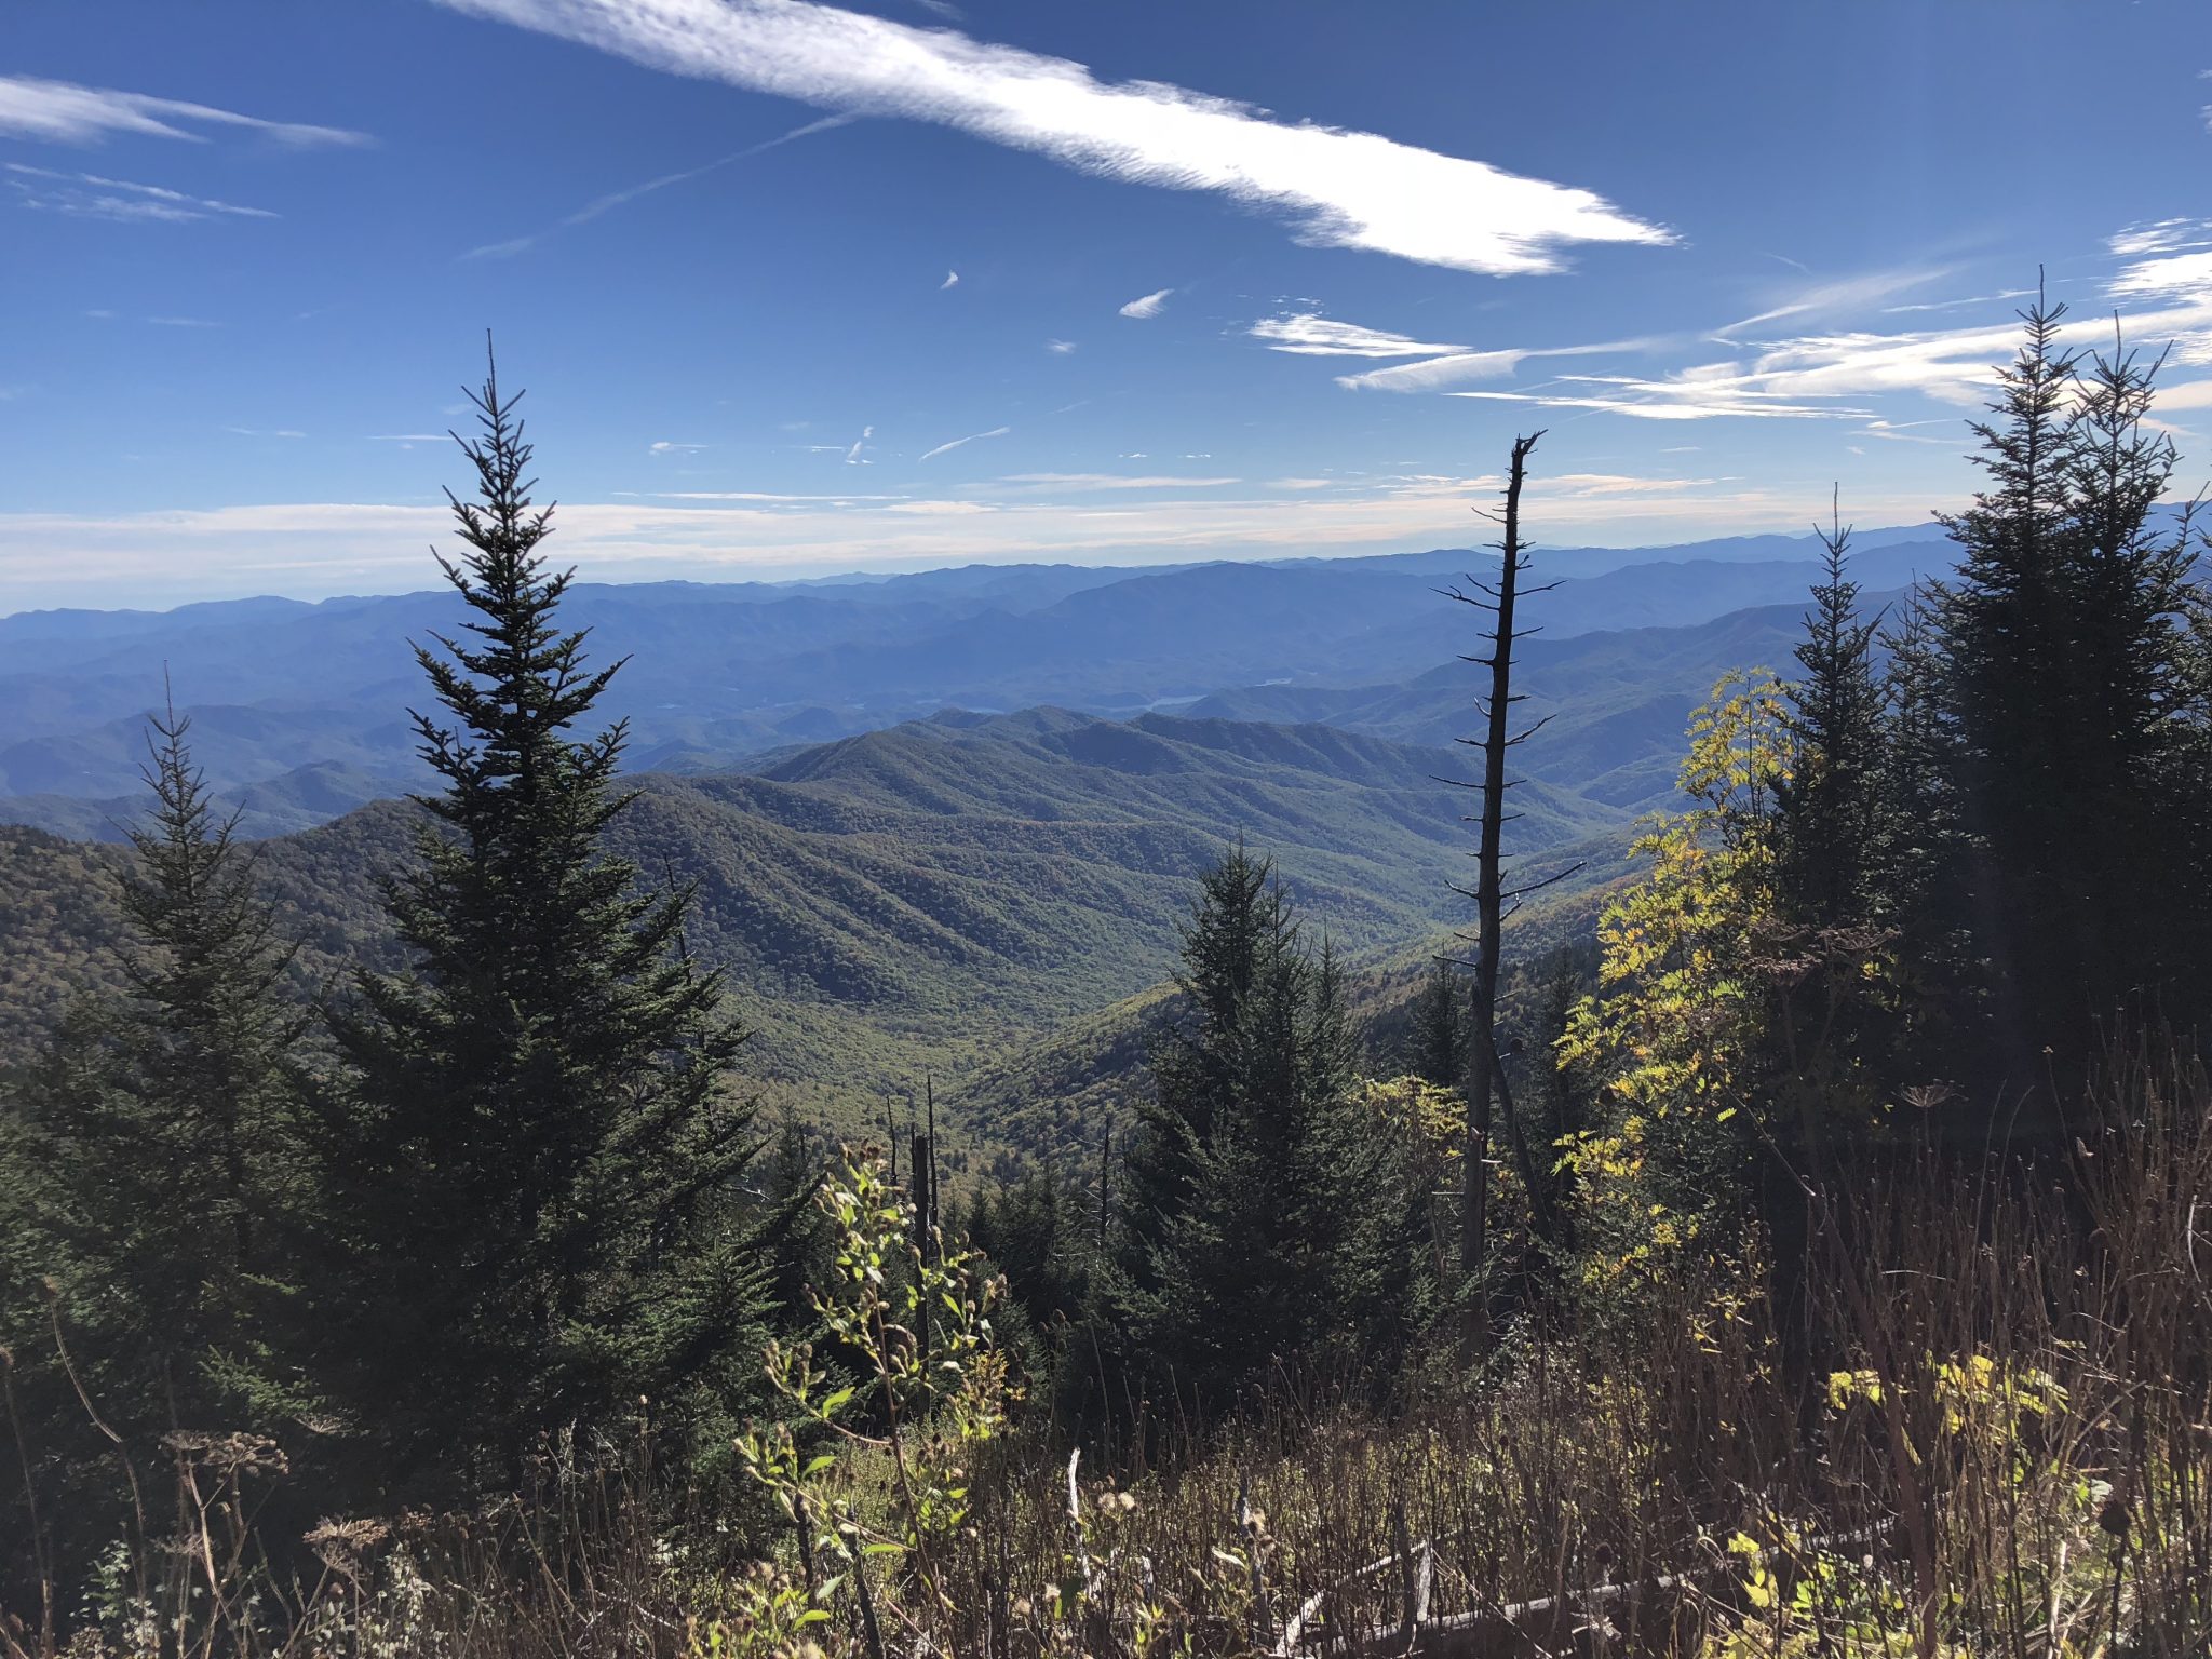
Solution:
[[[779,1349],[741,1480],[657,1467],[641,1405],[473,1511],[323,1522],[285,1573],[252,1533],[279,1449],[170,1436],[84,1613],[115,1652],[2192,1652],[2212,1091],[2146,1057],[2108,1088],[2048,1188],[1929,1148],[1814,1188],[1838,1225],[1790,1310],[1745,1263],[1641,1285],[1464,1387],[1159,1422],[1104,1475],[1022,1398],[1002,1287],[856,1157],[823,1192],[847,1380]],[[1794,1323],[1843,1334],[1812,1400]]]

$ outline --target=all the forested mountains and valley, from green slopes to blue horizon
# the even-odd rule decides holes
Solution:
[[[1927,531],[1860,538],[1893,591],[1944,568]],[[1672,801],[1683,719],[1745,664],[1787,666],[1809,538],[1542,553],[1517,684],[1513,847],[1624,869]],[[967,566],[818,584],[571,591],[641,799],[615,845],[699,889],[690,945],[759,1026],[748,1073],[867,1121],[936,1073],[975,1146],[1077,1124],[1124,1086],[1190,885],[1243,836],[1316,931],[1376,969],[1467,922],[1482,615],[1440,597],[1489,555],[1181,568]],[[0,1064],[115,973],[95,874],[142,812],[161,677],[195,759],[263,836],[261,878],[314,971],[378,960],[376,878],[420,783],[409,639],[445,595],[0,617]],[[1575,894],[1582,894],[1577,900]],[[1542,929],[1535,929],[1542,931]],[[1533,938],[1533,933],[1531,933]],[[1040,1082],[1042,1079],[1042,1082]],[[975,1093],[980,1091],[980,1093]],[[973,1110],[962,1097],[973,1093]],[[1020,1095],[1022,1113],[1006,1104]],[[1035,1097],[1031,1102],[1031,1097]],[[989,1126],[984,1126],[989,1119]],[[1004,1119],[1004,1121],[1000,1121]]]

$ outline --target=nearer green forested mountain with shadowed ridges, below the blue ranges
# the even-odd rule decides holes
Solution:
[[[1462,918],[1469,838],[1455,757],[1325,726],[1270,728],[1066,710],[909,723],[768,774],[644,776],[615,845],[648,880],[697,885],[688,945],[730,973],[759,1026],[748,1071],[845,1126],[887,1091],[947,1084],[1157,984],[1199,872],[1245,836],[1314,929],[1387,951]],[[1520,845],[1617,845],[1619,814],[1528,790]],[[378,872],[416,812],[383,801],[259,843],[305,964],[392,960]],[[1613,841],[1608,841],[1608,836]],[[113,982],[88,872],[119,849],[18,830],[0,1055],[22,1053],[71,987]],[[13,920],[9,920],[13,918]]]

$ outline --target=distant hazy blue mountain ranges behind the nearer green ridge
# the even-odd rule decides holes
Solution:
[[[1947,568],[1933,526],[1856,542],[1869,593]],[[1540,553],[1533,712],[1562,721],[1540,776],[1637,810],[1666,796],[1681,714],[1712,677],[1778,661],[1812,538]],[[1460,734],[1480,619],[1438,597],[1491,555],[1192,566],[962,566],[810,584],[580,584],[566,613],[606,661],[633,770],[714,772],[945,708],[1192,710],[1323,721],[1411,743]],[[192,714],[195,754],[248,834],[283,834],[418,783],[409,639],[462,622],[447,593],[166,613],[0,617],[0,821],[111,838],[133,810],[146,710]]]

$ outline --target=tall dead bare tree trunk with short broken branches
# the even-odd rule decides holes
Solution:
[[[1504,891],[1504,825],[1509,818],[1520,814],[1509,814],[1506,790],[1513,781],[1506,779],[1506,750],[1515,743],[1526,741],[1544,723],[1537,721],[1526,732],[1511,732],[1509,717],[1513,703],[1524,701],[1513,692],[1513,641],[1524,633],[1535,633],[1533,628],[1515,633],[1513,628],[1513,606],[1522,597],[1520,577],[1528,568],[1526,546],[1520,531],[1520,498],[1522,484],[1528,476],[1528,453],[1535,449],[1535,440],[1542,431],[1533,431],[1526,438],[1513,440],[1513,460],[1506,471],[1506,493],[1504,511],[1498,513],[1498,522],[1504,531],[1498,542],[1500,566],[1498,582],[1478,582],[1467,577],[1467,586],[1473,593],[1462,593],[1449,588],[1449,597],[1462,604],[1478,606],[1491,613],[1491,653],[1489,657],[1467,657],[1480,668],[1491,670],[1491,690],[1482,701],[1484,734],[1462,737],[1460,741],[1469,748],[1482,750],[1482,783],[1473,785],[1482,790],[1482,847],[1475,854],[1478,874],[1475,889],[1467,894],[1475,900],[1475,1042],[1473,1057],[1467,1077],[1467,1168],[1464,1188],[1460,1197],[1460,1272],[1467,1281],[1469,1312],[1467,1329],[1473,1347],[1480,1347],[1482,1336],[1489,1329],[1484,1294],[1482,1294],[1482,1265],[1489,1256],[1489,1155],[1491,1155],[1491,1099],[1493,1095],[1506,1102],[1506,1133],[1513,1141],[1515,1164],[1520,1166],[1522,1181],[1528,1186],[1528,1201],[1540,1219],[1540,1230],[1551,1232],[1546,1221],[1546,1192],[1537,1179],[1535,1159],[1528,1152],[1528,1141],[1522,1135],[1520,1121],[1513,1117],[1511,1095],[1504,1095],[1504,1073],[1498,1060],[1498,945],[1500,927],[1504,925],[1504,902],[1506,898],[1517,898],[1520,894]],[[1533,588],[1542,593],[1544,588]],[[1568,874],[1568,872],[1559,872]],[[1559,880],[1551,876],[1546,880]],[[1537,887],[1546,883],[1535,883]],[[1464,889],[1462,889],[1464,891]],[[1533,891],[1524,887],[1520,891]]]

